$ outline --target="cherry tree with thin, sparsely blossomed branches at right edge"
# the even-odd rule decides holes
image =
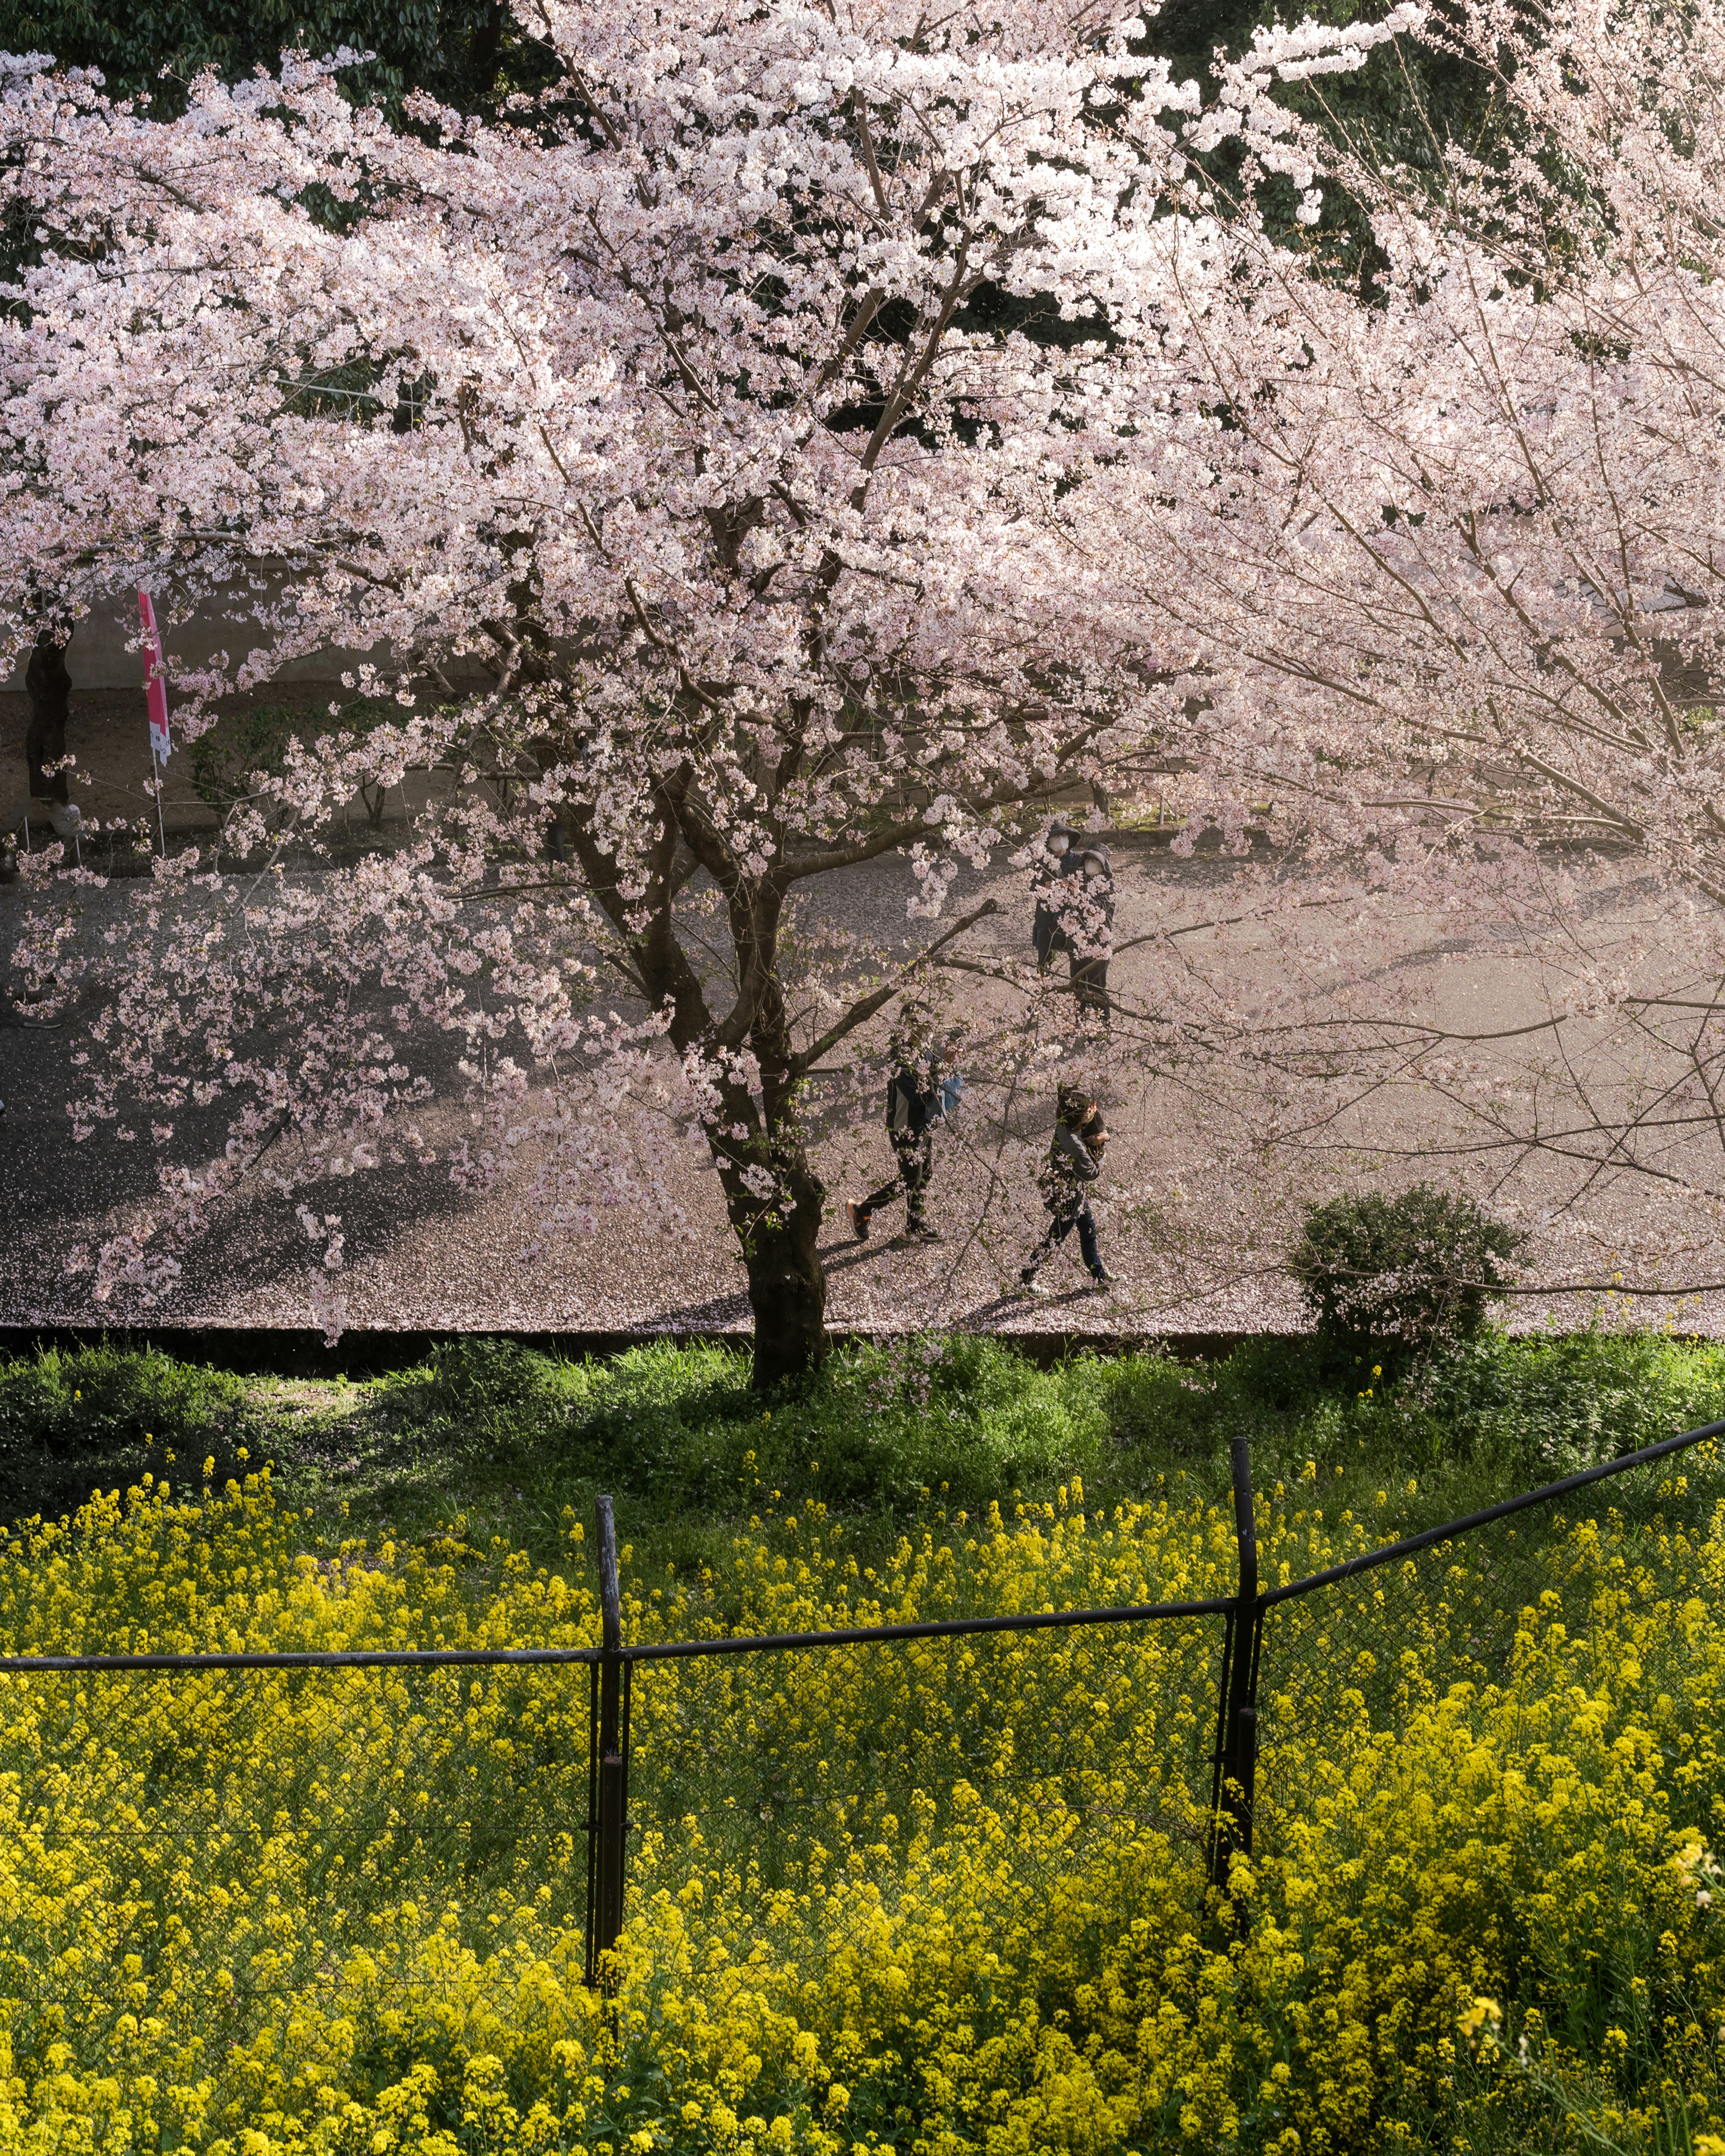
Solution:
[[[1192,800],[1272,802],[1307,862],[1434,908],[1494,856],[1473,897],[1544,970],[1522,1031],[1548,1052],[1505,1089],[1374,987],[1333,1037],[1343,1087],[1397,1069],[1477,1119],[1473,1156],[1719,1197],[1725,11],[1404,24],[1481,84],[1468,138],[1432,125],[1406,164],[1326,103],[1335,47],[1300,34],[1223,67],[1188,144],[1248,142],[1246,183],[1257,155],[1305,190],[1313,241],[1218,207],[1231,304],[1186,315],[1225,416],[1212,485],[1190,459],[1098,464],[1076,513],[1098,597],[1113,576],[1098,627],[1195,651]],[[1352,229],[1320,235],[1320,198]],[[1639,880],[1615,944],[1583,908],[1606,869]]]

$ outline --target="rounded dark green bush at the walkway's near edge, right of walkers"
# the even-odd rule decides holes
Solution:
[[[1527,1235],[1468,1197],[1414,1184],[1307,1212],[1289,1270],[1322,1339],[1430,1354],[1477,1339]]]

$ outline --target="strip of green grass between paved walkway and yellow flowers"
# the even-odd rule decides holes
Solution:
[[[1313,1462],[1326,1503],[1376,1505],[1393,1531],[1591,1466],[1725,1414],[1725,1350],[1660,1335],[1455,1348],[1397,1384],[1315,1343],[1246,1343],[1227,1360],[1078,1356],[1039,1369],[985,1337],[834,1354],[763,1399],[729,1348],[636,1348],[558,1360],[474,1339],[349,1384],[242,1378],[155,1350],[99,1345],[0,1363],[0,1507],[63,1514],[142,1473],[218,1477],[272,1460],[323,1544],[500,1537],[567,1563],[569,1520],[606,1490],[656,1563],[709,1561],[765,1509],[809,1496],[852,1546],[992,1501],[1087,1505],[1175,1477],[1227,1496],[1227,1440],[1253,1440],[1261,1490]]]

